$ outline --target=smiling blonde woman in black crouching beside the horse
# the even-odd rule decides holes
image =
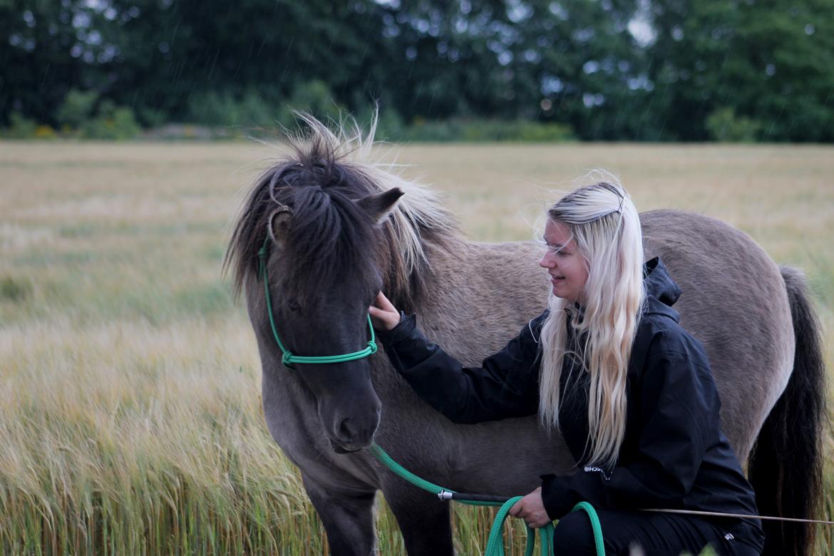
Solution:
[[[597,509],[607,553],[761,553],[757,519],[639,511],[756,514],[755,495],[721,432],[706,353],[678,323],[680,295],[663,263],[645,265],[640,218],[616,183],[595,183],[548,211],[550,308],[480,368],[429,343],[415,317],[379,293],[369,309],[386,353],[426,402],[455,423],[538,412],[577,468],[542,475],[510,513],[531,527],[559,520],[559,553],[594,553],[584,513]]]

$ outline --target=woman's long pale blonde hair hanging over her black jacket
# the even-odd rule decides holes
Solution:
[[[589,175],[600,176],[604,181],[576,189],[548,210],[551,220],[570,229],[588,279],[582,311],[550,293],[540,339],[539,415],[545,428],[559,428],[562,366],[575,356],[580,372],[590,375],[585,463],[610,468],[625,437],[625,380],[645,293],[640,217],[613,175]],[[567,343],[568,326],[576,351]]]

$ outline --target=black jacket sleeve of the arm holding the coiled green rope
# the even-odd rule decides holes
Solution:
[[[637,391],[629,399],[640,403],[636,453],[610,473],[585,466],[570,477],[542,475],[550,518],[583,500],[599,508],[681,508],[720,437],[721,403],[700,343],[650,353]]]

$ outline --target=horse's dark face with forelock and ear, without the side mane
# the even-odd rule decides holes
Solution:
[[[374,224],[402,192],[391,189],[353,200],[338,190],[307,185],[293,193],[294,202],[276,203],[270,213],[261,255],[264,269],[275,270],[261,273],[264,298],[269,292],[277,301],[266,307],[267,317],[270,311],[273,315],[268,335],[274,336],[273,348],[283,352],[284,365],[313,393],[334,448],[367,448],[380,413],[367,359],[376,351],[369,343],[368,306],[383,285],[373,260],[379,241]],[[366,344],[373,350],[365,349],[365,357],[349,358]]]

